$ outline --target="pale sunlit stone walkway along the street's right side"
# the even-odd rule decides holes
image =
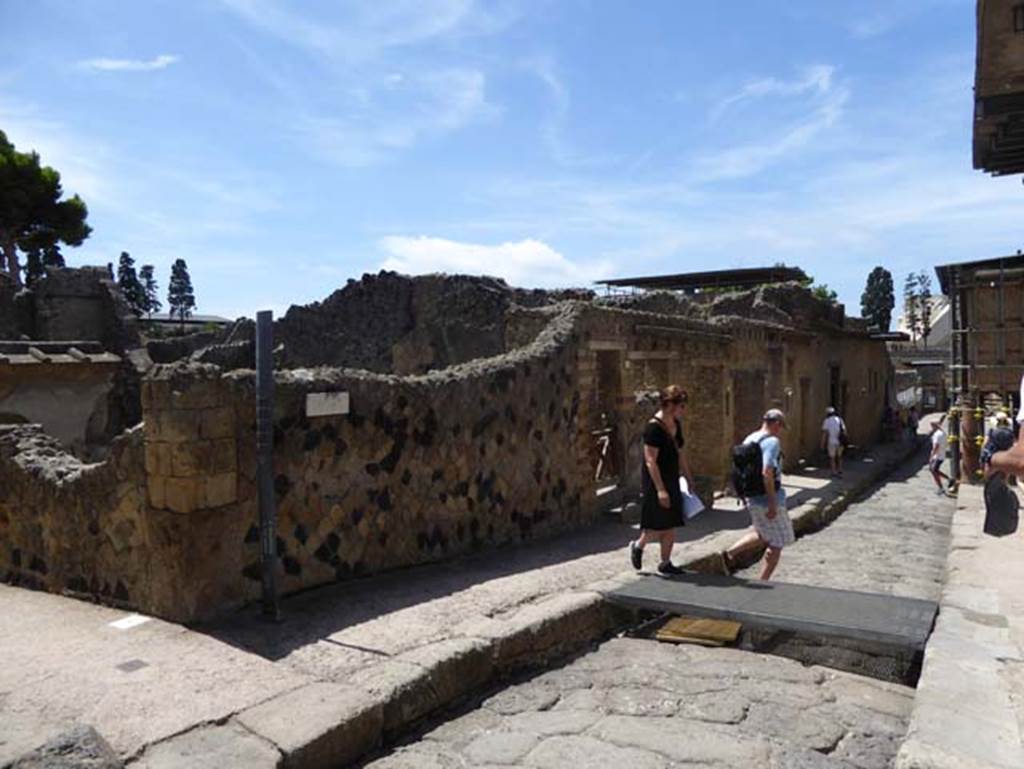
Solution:
[[[1000,588],[1012,590],[986,552],[980,486],[962,486],[935,630],[925,649],[907,735],[896,769],[1019,769],[1024,744],[1007,666],[1022,650],[1010,635]],[[1017,535],[1020,537],[1020,535]],[[1021,548],[1018,548],[1020,554]]]

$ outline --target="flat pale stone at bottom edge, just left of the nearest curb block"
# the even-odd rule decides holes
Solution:
[[[201,726],[146,749],[137,769],[275,769],[278,749],[238,724]]]

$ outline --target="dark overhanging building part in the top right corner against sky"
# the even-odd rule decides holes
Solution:
[[[974,167],[1024,172],[1024,2],[978,0]]]

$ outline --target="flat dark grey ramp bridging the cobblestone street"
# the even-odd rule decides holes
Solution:
[[[938,612],[935,601],[715,574],[641,576],[605,598],[631,608],[914,650],[924,650]]]

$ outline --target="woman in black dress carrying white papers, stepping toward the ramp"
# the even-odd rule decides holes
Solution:
[[[657,570],[663,574],[681,574],[683,570],[672,562],[672,546],[676,527],[684,524],[683,495],[679,477],[685,476],[690,489],[693,476],[683,454],[683,426],[680,418],[686,411],[686,391],[670,385],[659,393],[662,408],[643,431],[643,508],[640,511],[640,539],[630,543],[633,568],[643,565],[643,548],[657,542],[662,561]]]

